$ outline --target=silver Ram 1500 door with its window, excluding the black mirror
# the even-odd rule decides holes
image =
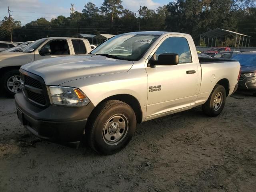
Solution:
[[[178,65],[146,66],[148,102],[146,120],[189,108],[198,87],[198,65],[192,58],[185,36],[166,37],[156,49],[157,60],[163,53],[179,55]]]

